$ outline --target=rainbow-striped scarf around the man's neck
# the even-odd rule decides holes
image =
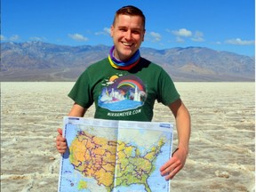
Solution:
[[[132,58],[127,61],[117,60],[114,56],[114,50],[115,50],[115,46],[113,46],[110,49],[109,54],[108,54],[108,60],[113,68],[118,68],[118,69],[122,69],[122,70],[130,70],[140,61],[139,49],[137,50],[137,52],[135,52],[132,55]]]

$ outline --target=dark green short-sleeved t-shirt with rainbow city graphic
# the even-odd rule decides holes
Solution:
[[[84,108],[94,102],[95,118],[132,121],[151,121],[155,100],[169,105],[180,98],[164,69],[144,58],[129,71],[100,60],[86,68],[68,96]]]

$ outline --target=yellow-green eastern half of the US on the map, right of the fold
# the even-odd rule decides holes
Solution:
[[[140,149],[119,141],[116,161],[116,186],[130,186],[142,184],[147,192],[151,192],[148,186],[148,177],[155,171],[156,156],[161,152],[164,140],[159,140],[145,156],[141,156]]]

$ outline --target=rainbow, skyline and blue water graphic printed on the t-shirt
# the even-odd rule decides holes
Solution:
[[[98,105],[110,111],[142,106],[147,98],[145,85],[138,76],[111,76],[103,85]]]

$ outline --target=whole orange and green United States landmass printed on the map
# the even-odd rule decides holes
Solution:
[[[159,140],[155,147],[142,156],[140,148],[136,146],[122,141],[106,140],[88,132],[78,132],[69,148],[69,159],[77,171],[85,177],[94,178],[109,192],[114,188],[115,180],[116,187],[140,183],[149,192],[151,189],[147,180],[156,169],[154,161],[163,145],[164,141]]]

